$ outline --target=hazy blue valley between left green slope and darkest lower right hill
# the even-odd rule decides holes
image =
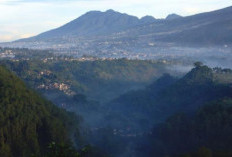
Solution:
[[[159,154],[143,148],[156,145],[147,138],[161,138],[156,127],[179,112],[194,115],[204,104],[232,96],[232,71],[201,62],[74,58],[10,48],[4,52],[15,56],[2,58],[2,66],[56,106],[81,116],[84,143],[108,155]]]

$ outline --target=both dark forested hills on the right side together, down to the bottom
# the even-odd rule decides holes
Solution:
[[[198,62],[181,79],[164,75],[143,90],[115,99],[106,121],[140,133],[153,126],[142,138],[140,133],[128,135],[137,139],[128,148],[137,156],[230,157],[230,76],[229,69]]]

